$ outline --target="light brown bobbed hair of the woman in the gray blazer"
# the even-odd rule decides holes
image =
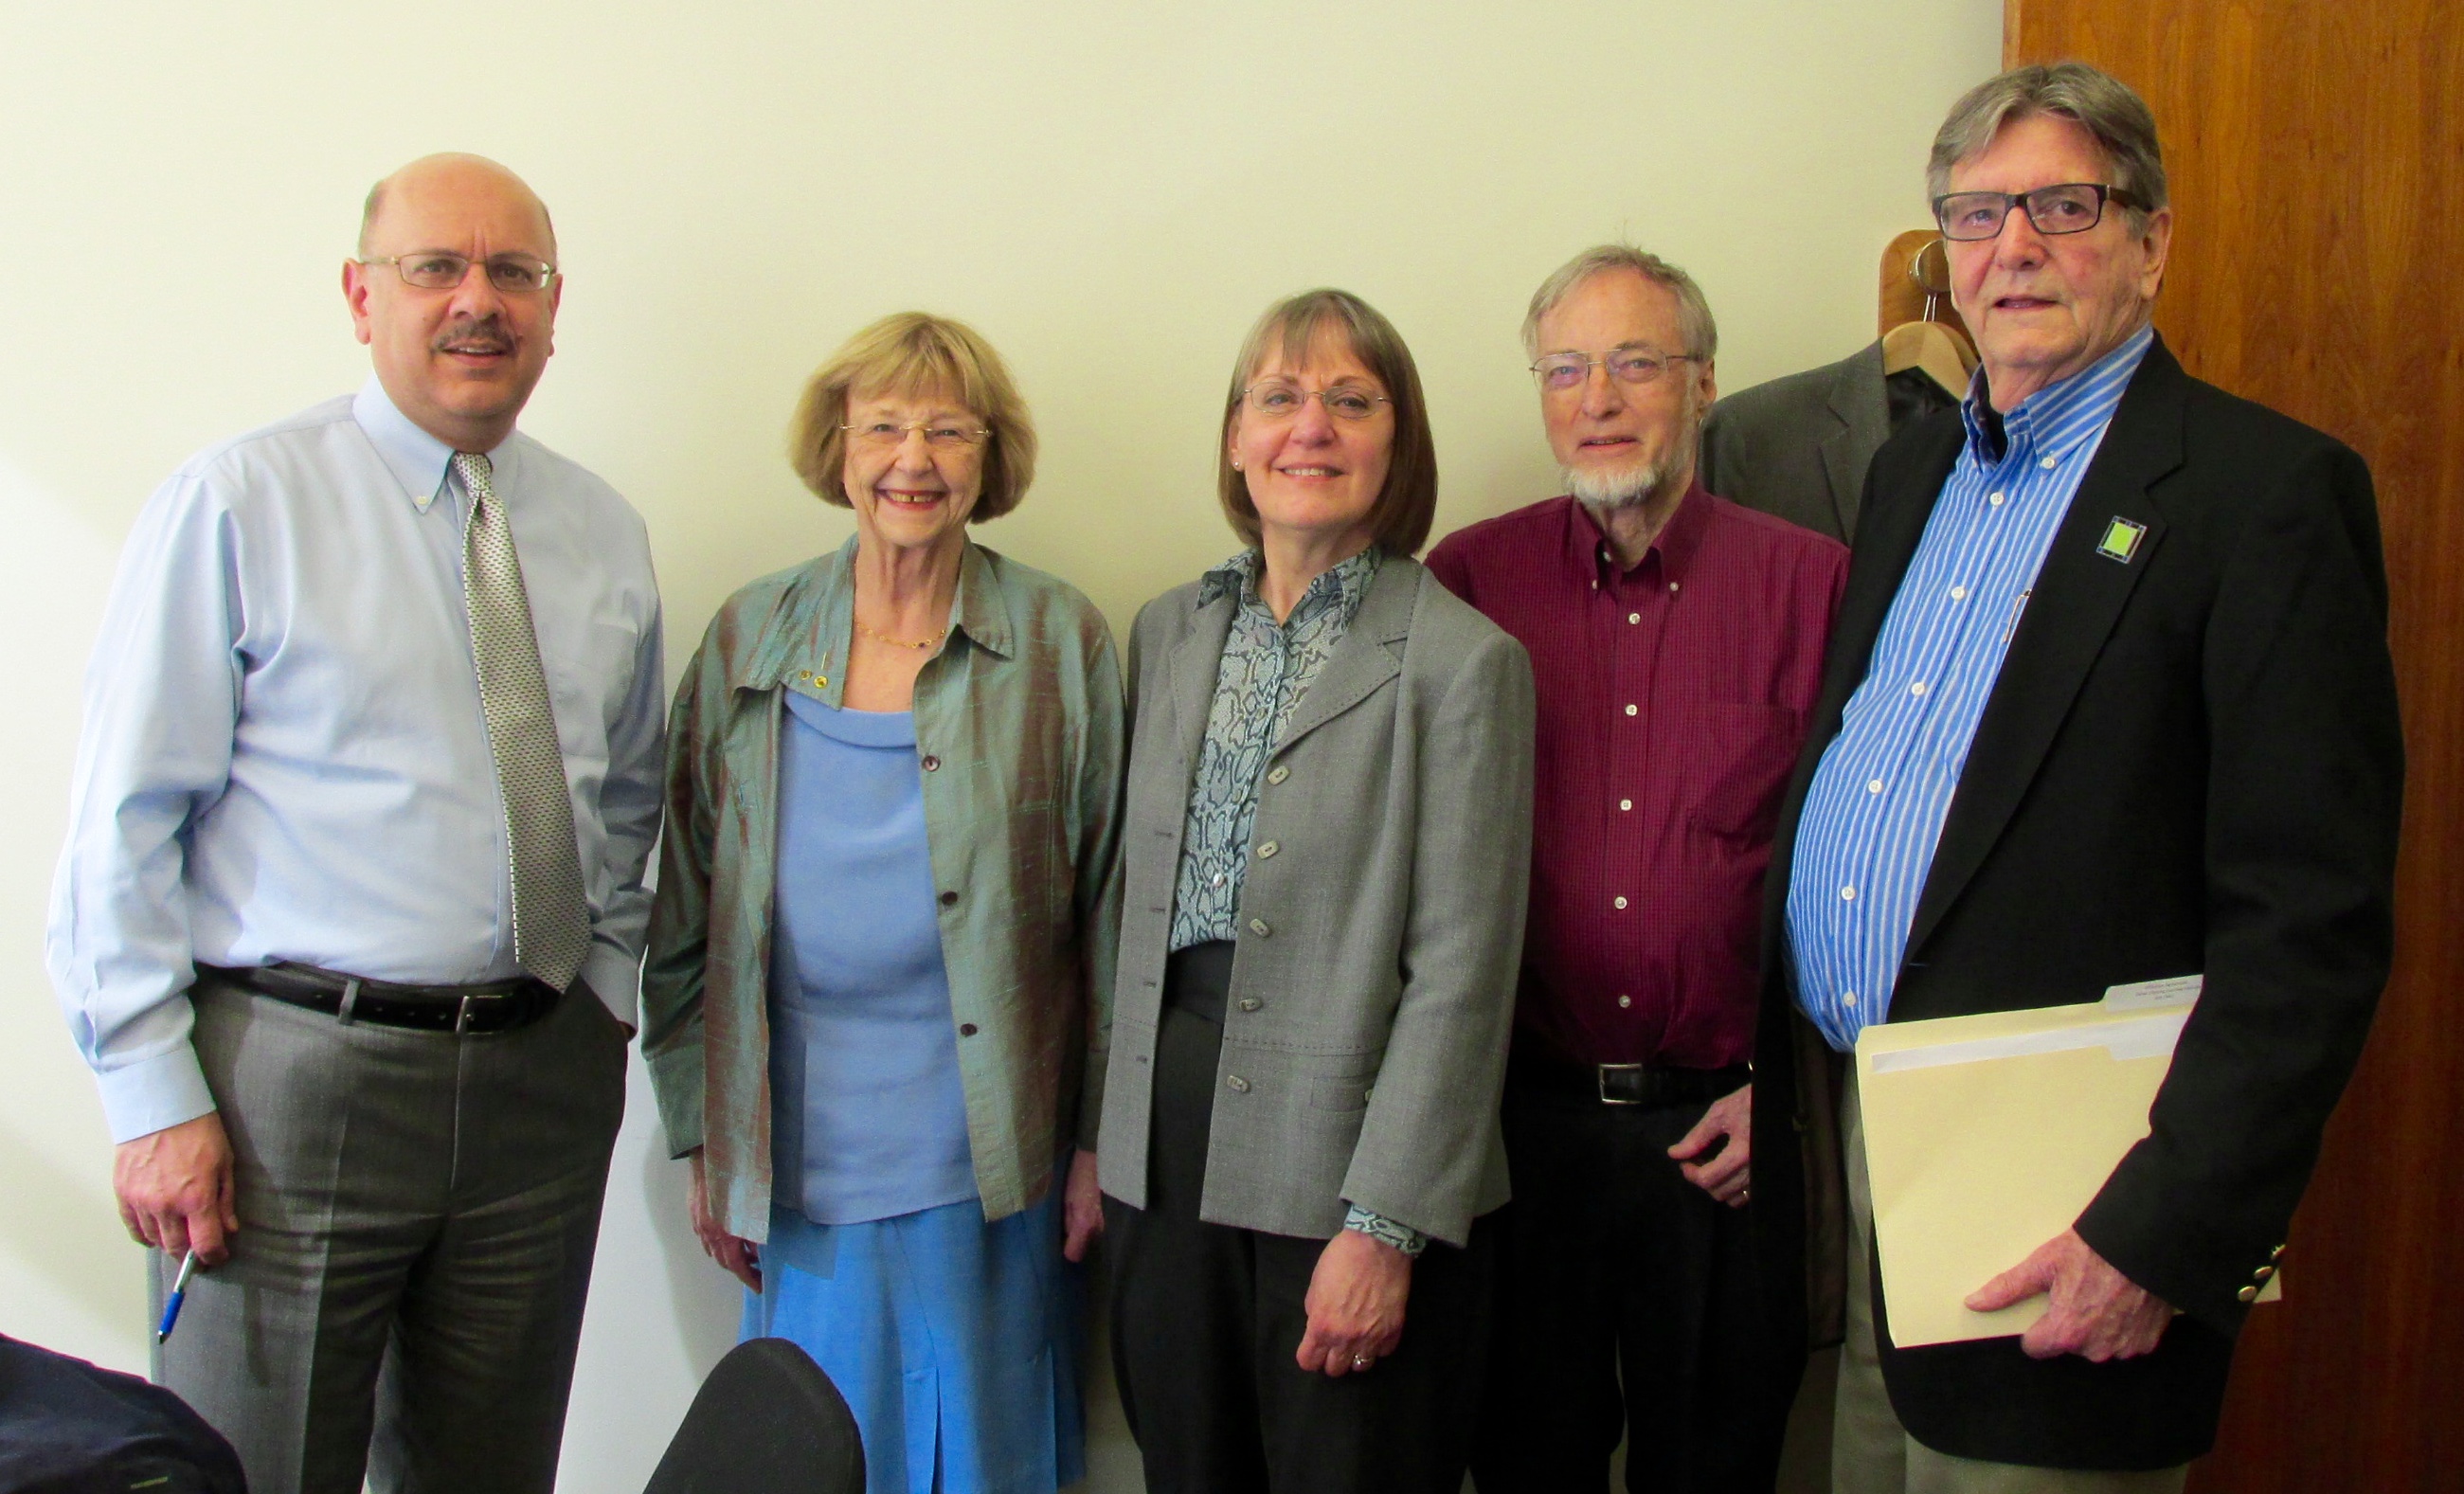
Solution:
[[[1232,362],[1232,392],[1225,397],[1225,429],[1215,441],[1215,496],[1244,545],[1257,545],[1262,528],[1249,478],[1232,466],[1232,422],[1239,419],[1242,392],[1257,377],[1266,353],[1286,365],[1303,362],[1321,330],[1335,330],[1353,357],[1385,385],[1395,407],[1395,446],[1387,454],[1387,481],[1370,505],[1370,528],[1392,555],[1412,555],[1429,537],[1437,518],[1437,441],[1429,436],[1429,402],[1419,392],[1419,367],[1412,350],[1375,306],[1350,291],[1301,291],[1266,308],[1249,328]]]

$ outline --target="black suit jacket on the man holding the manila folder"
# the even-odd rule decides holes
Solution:
[[[1818,1043],[1786,966],[1796,821],[1961,441],[1956,412],[1929,417],[1868,473],[1772,851],[1764,1055]],[[2126,562],[2097,552],[2117,518],[2146,525]],[[1919,1442],[2107,1469],[2213,1445],[2242,1289],[2274,1262],[2388,974],[2402,737],[2385,621],[2361,459],[2188,377],[2156,343],[1986,700],[1890,1016],[2094,1001],[2122,981],[2205,974],[2151,1134],[2077,1220],[2186,1316],[2154,1353],[2104,1366],[2030,1361],[2018,1339],[1902,1351],[1882,1324],[1892,1408]],[[1801,1104],[1804,1072],[1757,1065],[1759,1137],[1828,1134]],[[1757,1149],[1774,1312],[1804,1312],[1804,1201],[1831,1191],[1821,1169],[1836,1166],[1816,1149]]]

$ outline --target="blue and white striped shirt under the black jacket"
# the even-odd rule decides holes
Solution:
[[[1833,1048],[1890,1018],[1934,843],[2001,676],[2035,572],[2154,333],[2001,419],[1984,377],[1959,407],[1969,439],[1890,602],[1865,680],[1823,749],[1789,868],[1796,1003]]]

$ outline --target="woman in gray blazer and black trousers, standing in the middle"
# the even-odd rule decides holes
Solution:
[[[1271,306],[1225,399],[1242,555],[1131,636],[1099,1137],[1121,1403],[1153,1494],[1454,1494],[1506,1203],[1530,865],[1523,646],[1414,560],[1412,355]]]

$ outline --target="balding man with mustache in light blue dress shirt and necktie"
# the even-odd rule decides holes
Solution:
[[[259,1492],[554,1484],[663,725],[641,518],[513,429],[554,254],[488,160],[379,182],[375,377],[155,493],[86,676],[52,979]]]

